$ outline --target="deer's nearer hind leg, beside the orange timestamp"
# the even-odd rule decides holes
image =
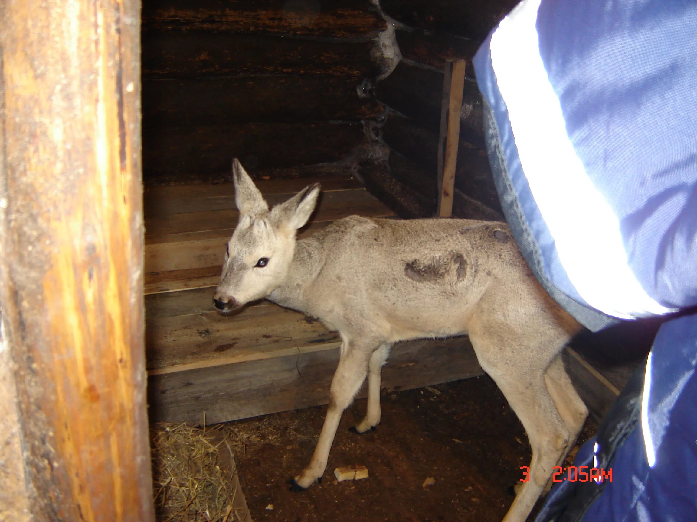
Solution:
[[[564,459],[570,441],[578,433],[578,429],[567,426],[546,384],[546,367],[556,358],[560,347],[541,351],[539,345],[523,343],[507,348],[500,338],[490,339],[473,332],[470,332],[470,340],[482,368],[496,381],[525,428],[533,448],[529,480],[521,483],[503,519],[504,522],[523,522],[544,491],[554,466]],[[563,370],[563,366],[560,369]],[[555,366],[553,376],[559,379],[558,366]],[[559,389],[564,389],[563,386],[565,382]]]

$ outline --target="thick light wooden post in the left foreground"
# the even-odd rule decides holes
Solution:
[[[0,352],[31,520],[154,519],[139,10],[0,3]]]

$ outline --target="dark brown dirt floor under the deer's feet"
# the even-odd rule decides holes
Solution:
[[[326,406],[226,425],[236,441],[240,482],[255,522],[500,521],[520,466],[530,462],[523,427],[487,377],[383,393],[374,432],[353,434],[365,412],[344,413],[323,482],[289,491],[309,461]],[[579,441],[595,429],[588,421]],[[575,454],[576,448],[572,450]],[[364,465],[369,478],[337,482],[334,469]],[[432,477],[435,482],[424,486]],[[530,517],[532,519],[532,517]]]

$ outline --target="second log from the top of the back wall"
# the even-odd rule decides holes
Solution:
[[[220,31],[145,31],[144,78],[231,74],[321,74],[376,77],[374,42],[319,41]]]

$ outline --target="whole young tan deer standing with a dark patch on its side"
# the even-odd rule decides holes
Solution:
[[[395,342],[466,333],[533,448],[530,480],[504,519],[524,521],[588,411],[560,358],[581,327],[539,286],[506,224],[350,216],[296,241],[319,185],[269,210],[237,160],[233,177],[240,221],[215,306],[227,312],[266,298],[321,319],[342,338],[327,416],[296,487],[321,479],[342,412],[366,376],[367,413],[355,429],[380,422],[381,367]]]

